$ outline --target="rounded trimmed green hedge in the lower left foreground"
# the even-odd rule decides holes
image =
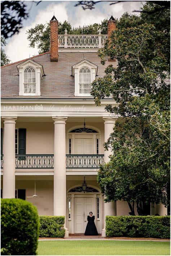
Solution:
[[[22,199],[1,199],[1,255],[36,255],[39,216]]]

